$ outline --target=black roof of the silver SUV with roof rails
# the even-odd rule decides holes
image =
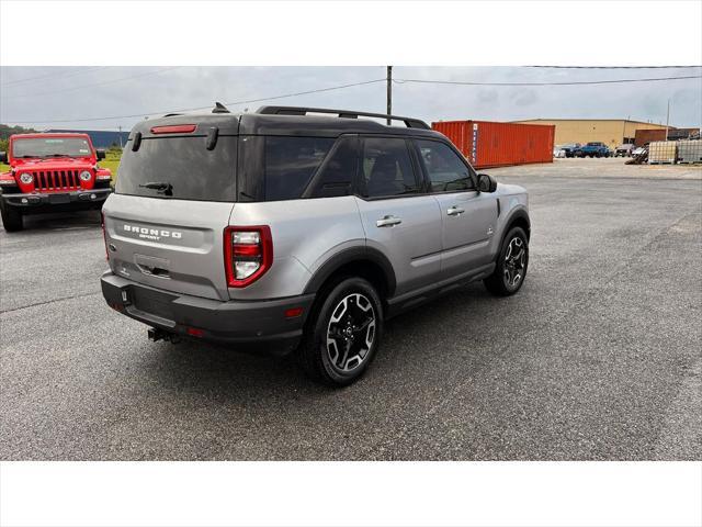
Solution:
[[[354,112],[347,110],[309,109],[304,106],[263,106],[256,113],[191,113],[167,115],[137,123],[131,137],[140,132],[144,137],[152,136],[151,128],[177,124],[196,124],[194,135],[206,135],[208,128],[217,127],[222,135],[299,135],[337,137],[341,134],[392,134],[416,137],[443,137],[432,131],[423,121],[392,115],[405,126],[387,126],[376,121],[358,119],[363,116],[387,117],[385,114]],[[314,112],[306,115],[305,112]],[[318,114],[319,112],[329,115]],[[193,135],[193,134],[188,134]]]

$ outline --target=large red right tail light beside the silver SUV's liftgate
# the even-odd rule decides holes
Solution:
[[[227,284],[245,288],[273,264],[273,239],[268,225],[227,227],[224,231],[224,258]]]

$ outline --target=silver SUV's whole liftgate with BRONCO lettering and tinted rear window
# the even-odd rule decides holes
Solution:
[[[115,274],[228,299],[223,235],[236,200],[237,138],[219,136],[214,148],[206,142],[195,133],[141,137],[136,150],[127,143],[115,193],[103,206]]]

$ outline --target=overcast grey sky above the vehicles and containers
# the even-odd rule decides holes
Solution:
[[[702,79],[599,86],[489,87],[401,82],[565,82],[702,75],[693,69],[546,69],[526,67],[395,67],[393,113],[439,120],[513,121],[592,117],[697,126]],[[271,101],[234,104],[385,78],[384,67],[2,67],[0,122],[43,128],[128,130],[146,115],[229,103],[309,105],[385,113],[385,82]],[[135,115],[135,116],[129,116]],[[111,119],[97,119],[111,117]],[[72,121],[71,121],[72,120]],[[83,120],[83,121],[77,121]],[[65,122],[50,122],[65,121]]]

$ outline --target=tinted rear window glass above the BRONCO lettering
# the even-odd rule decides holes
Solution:
[[[133,152],[129,141],[120,162],[115,192],[146,198],[236,201],[237,137],[219,136],[212,150],[205,142],[202,136],[144,138]],[[144,187],[147,183],[168,184],[171,195]]]

